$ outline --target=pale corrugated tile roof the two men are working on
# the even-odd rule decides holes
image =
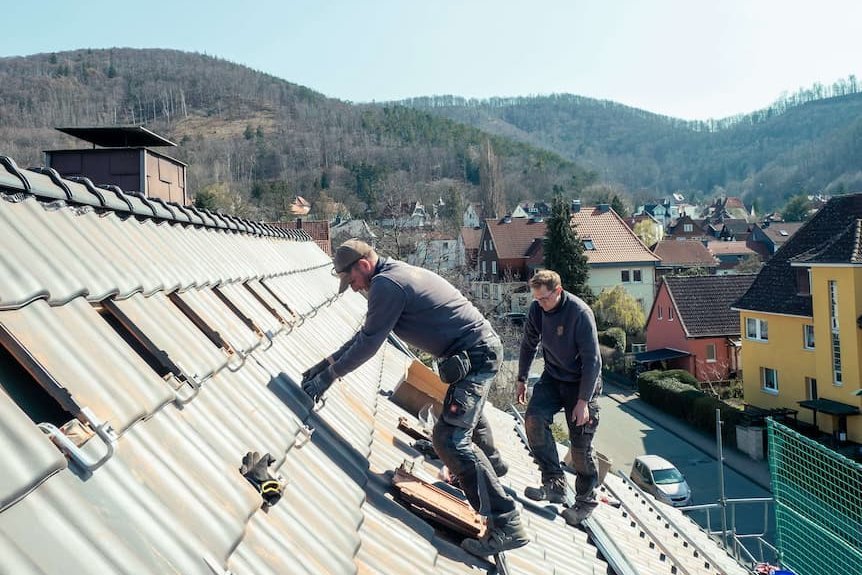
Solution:
[[[397,430],[405,412],[387,397],[403,353],[384,346],[322,407],[299,389],[300,372],[365,310],[358,294],[336,297],[312,242],[13,199],[0,197],[0,218],[20,226],[20,214],[30,236],[0,252],[11,353],[0,356],[0,572],[488,571],[393,499],[389,473],[403,460],[437,471]],[[59,241],[74,233],[90,242]],[[22,395],[37,388],[65,419],[98,427],[67,448],[74,462],[46,432],[64,434],[37,426],[52,403]],[[504,484],[520,494],[538,471],[514,420],[488,416],[511,466]],[[237,469],[249,450],[273,454],[287,481],[268,512]],[[608,571],[584,531],[527,505],[533,541],[508,554],[512,572]]]

